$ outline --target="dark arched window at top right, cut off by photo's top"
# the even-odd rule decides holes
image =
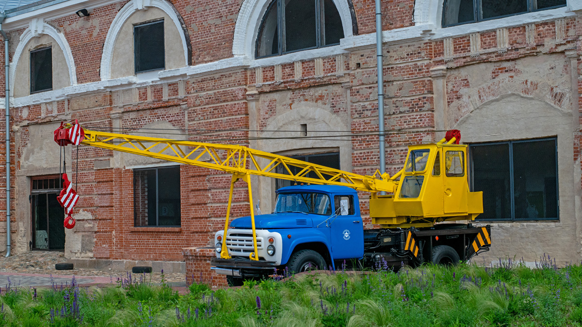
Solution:
[[[566,6],[566,0],[445,0],[442,26],[481,22]]]

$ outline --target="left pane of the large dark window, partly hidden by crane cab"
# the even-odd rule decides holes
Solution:
[[[509,144],[471,146],[473,191],[483,192],[478,219],[511,219]]]

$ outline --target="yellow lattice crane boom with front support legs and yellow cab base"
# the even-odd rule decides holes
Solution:
[[[69,129],[71,126],[71,124],[65,124],[65,129]],[[224,225],[225,236],[229,225],[234,184],[239,179],[244,180],[244,182],[247,183],[249,191],[251,228],[253,230],[254,252],[249,255],[250,260],[258,260],[257,239],[254,225],[253,194],[251,191],[250,180],[251,175],[292,180],[296,183],[347,186],[359,191],[370,192],[372,193],[370,199],[370,216],[372,217],[372,222],[379,223],[383,227],[402,227],[408,225],[420,226],[423,224],[431,225],[431,223],[438,221],[438,219],[435,219],[436,216],[434,215],[431,216],[433,217],[431,219],[427,219],[428,217],[424,217],[423,215],[423,208],[427,207],[427,203],[431,202],[431,194],[423,194],[422,197],[417,199],[402,199],[398,196],[395,197],[395,194],[398,194],[400,187],[402,187],[402,181],[399,180],[400,177],[411,175],[410,172],[407,172],[411,165],[408,159],[407,165],[392,177],[389,176],[388,173],[381,174],[378,170],[376,170],[374,175],[367,176],[328,168],[326,166],[315,165],[314,163],[292,159],[265,151],[254,150],[242,145],[178,141],[165,138],[107,133],[94,130],[84,130],[84,133],[85,138],[82,143],[92,147],[143,155],[145,157],[184,163],[209,169],[217,169],[232,174]],[[442,148],[445,145],[451,145],[462,148],[463,151],[466,152],[466,145],[452,145],[454,142],[454,137],[449,141],[443,138],[436,145],[432,144],[432,146]],[[411,148],[413,147],[423,147],[423,145],[411,146]],[[430,152],[430,158],[431,161],[434,161],[434,155],[432,153],[433,152]],[[427,153],[427,155],[429,154]],[[426,158],[416,158],[415,162],[419,162],[423,159]],[[282,170],[284,173],[276,172],[275,169],[279,166],[283,168]],[[297,173],[293,173],[294,169],[292,168],[296,169]],[[466,166],[464,169],[466,170]],[[312,175],[317,177],[308,177],[310,173],[313,173]],[[426,172],[424,174],[426,175]],[[461,194],[469,192],[466,179],[465,183],[459,187],[461,189]],[[378,193],[382,191],[392,194],[379,195]],[[474,196],[471,197],[472,200],[476,201],[476,204],[470,206],[468,210],[469,213],[467,212],[467,209],[465,209],[465,212],[453,212],[452,214],[445,214],[442,212],[441,215],[448,216],[448,218],[441,219],[441,221],[462,218],[474,219],[474,216],[482,212],[481,196],[481,193],[479,193],[474,194]],[[465,196],[464,201],[466,200],[467,197]],[[409,203],[406,203],[407,201],[409,201]],[[402,205],[400,203],[402,203]],[[481,205],[480,208],[479,204]],[[417,209],[419,206],[421,208],[420,211]],[[430,203],[428,207],[435,206],[442,207],[443,205]],[[473,212],[472,214],[471,211]],[[410,214],[410,212],[413,212],[413,214]],[[418,212],[423,216],[417,216]],[[419,220],[420,222],[418,222]],[[414,221],[417,221],[417,223],[415,224]],[[228,248],[226,247],[226,241],[223,241],[222,243],[221,258],[230,258]]]

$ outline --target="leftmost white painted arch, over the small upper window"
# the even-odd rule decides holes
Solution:
[[[65,61],[69,69],[70,84],[77,84],[77,70],[74,65],[73,53],[71,52],[69,42],[67,42],[65,35],[47,23],[41,22],[39,20],[33,20],[29,28],[24,30],[22,35],[20,35],[20,41],[16,47],[14,56],[12,57],[12,63],[10,64],[10,96],[14,96],[16,66],[18,65],[20,57],[23,55],[24,49],[26,48],[26,45],[29,43],[29,41],[41,34],[45,34],[51,37],[53,40],[55,40],[56,44],[58,44],[59,48],[61,48],[63,54],[65,55]]]

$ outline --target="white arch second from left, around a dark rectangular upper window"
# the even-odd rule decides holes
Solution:
[[[111,27],[107,32],[105,44],[103,45],[103,54],[101,56],[101,80],[111,79],[111,59],[113,57],[113,49],[115,48],[115,41],[117,41],[119,32],[123,24],[134,12],[138,10],[147,9],[148,7],[155,7],[163,10],[175,24],[178,33],[180,34],[180,41],[182,41],[182,48],[184,49],[184,66],[188,66],[189,51],[186,41],[186,34],[182,28],[182,23],[178,17],[176,10],[167,1],[164,0],[131,0],[119,10],[118,14],[111,22]]]

